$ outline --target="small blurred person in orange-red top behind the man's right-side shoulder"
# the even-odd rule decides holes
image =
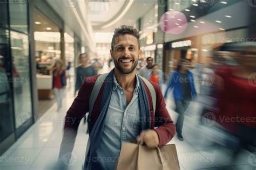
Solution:
[[[149,80],[157,83],[162,88],[163,84],[163,71],[159,69],[158,64],[152,66],[152,72],[149,74]]]

